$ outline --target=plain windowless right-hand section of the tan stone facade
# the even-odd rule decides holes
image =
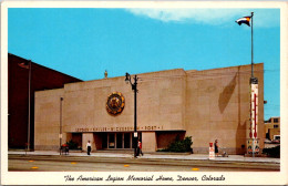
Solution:
[[[255,65],[259,80],[260,148],[264,134],[263,64]],[[249,132],[250,65],[187,71],[186,135],[193,136],[195,153],[208,153],[216,138],[230,154],[244,154]]]

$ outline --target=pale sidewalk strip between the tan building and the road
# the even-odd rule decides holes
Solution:
[[[18,154],[24,155],[24,151],[9,151],[8,154]],[[60,153],[56,151],[34,151],[34,152],[27,152],[27,155],[47,155],[47,156],[59,156]],[[85,152],[70,152],[69,155],[61,155],[61,156],[88,156]],[[127,153],[91,153],[91,156],[95,157],[125,157],[125,158],[133,158],[133,152],[131,154]],[[171,154],[157,154],[157,153],[145,153],[144,156],[138,158],[146,158],[146,159],[184,159],[184,161],[207,161],[208,154],[181,154],[181,155],[171,155]],[[271,158],[271,157],[244,157],[243,155],[229,155],[229,157],[215,157],[216,162],[258,162],[258,163],[275,163],[279,164],[280,158]]]

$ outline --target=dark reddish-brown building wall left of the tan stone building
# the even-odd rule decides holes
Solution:
[[[63,87],[65,83],[81,80],[8,54],[8,146],[25,148],[29,128],[29,73],[30,82],[30,148],[34,146],[34,92]]]

